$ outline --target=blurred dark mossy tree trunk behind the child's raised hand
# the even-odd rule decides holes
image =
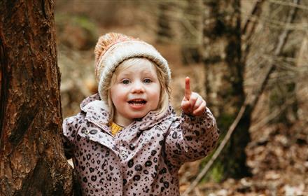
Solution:
[[[204,1],[204,64],[206,66],[207,103],[216,116],[218,127],[228,130],[244,103],[244,63],[241,61],[239,0]],[[247,110],[237,130],[211,169],[211,177],[249,176],[245,147],[250,141],[248,128],[251,110]]]

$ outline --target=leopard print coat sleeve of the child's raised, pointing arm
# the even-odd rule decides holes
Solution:
[[[179,167],[207,156],[219,137],[216,120],[207,108],[201,116],[181,113],[169,127],[165,141],[165,155],[169,164]]]

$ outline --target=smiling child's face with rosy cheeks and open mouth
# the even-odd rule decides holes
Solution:
[[[121,66],[121,65],[120,65]],[[111,101],[115,106],[115,123],[129,125],[158,108],[160,82],[151,62],[124,68],[111,85]]]

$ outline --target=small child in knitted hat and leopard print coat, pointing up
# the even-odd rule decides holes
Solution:
[[[139,39],[101,36],[95,59],[99,93],[63,123],[83,195],[179,195],[181,165],[208,155],[218,139],[206,102],[186,78],[176,116],[167,61]]]

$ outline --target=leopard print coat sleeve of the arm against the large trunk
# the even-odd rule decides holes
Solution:
[[[82,113],[76,116],[71,116],[63,120],[62,128],[62,141],[64,146],[64,153],[67,159],[73,157],[74,140],[79,130],[78,121],[82,118]]]

